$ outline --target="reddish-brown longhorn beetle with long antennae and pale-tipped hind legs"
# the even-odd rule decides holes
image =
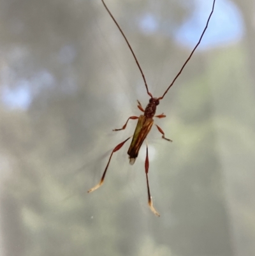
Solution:
[[[145,109],[143,109],[141,103],[138,101],[138,109],[140,109],[143,112],[143,115],[141,116],[131,116],[128,118],[128,120],[126,121],[126,123],[124,124],[124,126],[122,126],[122,128],[120,129],[114,129],[113,131],[120,131],[120,130],[124,130],[128,124],[129,119],[138,119],[138,123],[136,124],[136,128],[135,128],[135,133],[132,139],[132,142],[129,146],[128,149],[128,155],[129,155],[129,163],[131,165],[133,165],[135,163],[135,160],[138,156],[140,147],[143,144],[143,140],[145,140],[145,138],[147,137],[148,133],[150,132],[150,129],[152,128],[152,124],[154,123],[153,117],[157,117],[157,118],[163,118],[166,117],[164,114],[160,114],[157,116],[154,116],[156,114],[156,108],[157,105],[159,105],[159,101],[162,100],[164,98],[164,95],[166,95],[166,93],[168,92],[168,90],[170,89],[171,86],[173,86],[175,80],[179,77],[180,73],[182,73],[182,70],[184,69],[184,67],[186,66],[186,64],[189,62],[189,59],[191,59],[191,56],[193,56],[194,51],[196,50],[196,48],[198,47],[198,45],[200,45],[200,42],[203,38],[203,35],[205,34],[205,31],[207,30],[209,21],[212,17],[212,13],[214,12],[214,5],[215,5],[215,0],[213,0],[213,4],[212,4],[212,10],[210,12],[210,15],[207,19],[207,24],[205,25],[205,28],[203,29],[203,32],[200,36],[200,40],[198,40],[198,43],[196,43],[196,46],[194,47],[194,49],[192,50],[191,54],[189,55],[189,57],[186,59],[185,63],[182,65],[182,68],[180,69],[179,73],[177,73],[177,75],[175,76],[175,78],[173,79],[173,81],[171,82],[170,86],[168,86],[168,88],[166,89],[166,91],[164,92],[164,94],[162,96],[160,96],[159,98],[155,98],[154,96],[152,96],[152,94],[149,92],[148,86],[147,86],[147,82],[145,80],[145,75],[143,74],[142,68],[138,62],[138,59],[135,56],[135,52],[133,51],[131,45],[129,44],[128,39],[126,38],[124,32],[122,31],[122,29],[120,28],[118,22],[115,20],[115,18],[113,17],[112,13],[110,12],[110,10],[108,9],[108,7],[105,4],[104,0],[101,0],[103,5],[105,6],[106,11],[108,11],[110,17],[112,17],[113,22],[115,22],[116,26],[118,27],[120,33],[122,34],[122,36],[124,37],[126,43],[128,44],[129,50],[131,50],[131,53],[133,54],[133,57],[136,61],[136,64],[140,70],[140,73],[142,75],[143,78],[143,82],[145,84],[146,90],[147,90],[147,94],[150,96],[150,100],[149,103],[147,105],[147,107]],[[172,141],[170,139],[167,139],[166,137],[164,137],[164,132],[163,130],[156,124],[157,126],[157,130],[159,130],[159,132],[162,134],[162,138],[168,141]],[[113,153],[115,153],[116,151],[118,151],[131,137],[128,137],[128,139],[124,140],[123,142],[121,142],[120,144],[118,144],[112,151],[112,153],[110,154],[110,158],[108,160],[108,163],[105,167],[105,171],[103,172],[103,176],[101,177],[100,182],[94,186],[93,188],[91,188],[91,190],[88,191],[88,193],[93,192],[94,190],[98,189],[99,186],[101,186],[103,184],[103,181],[105,179],[105,174],[106,171],[108,169],[108,166],[110,164],[110,161],[112,159],[112,155]],[[152,210],[152,212],[159,216],[159,213],[157,213],[156,209],[154,208],[153,204],[152,204],[152,197],[150,196],[150,187],[149,187],[149,179],[148,179],[148,172],[149,172],[149,155],[148,155],[148,145],[146,143],[146,158],[145,158],[145,174],[146,174],[146,181],[147,181],[147,192],[148,192],[148,204],[150,209]]]

